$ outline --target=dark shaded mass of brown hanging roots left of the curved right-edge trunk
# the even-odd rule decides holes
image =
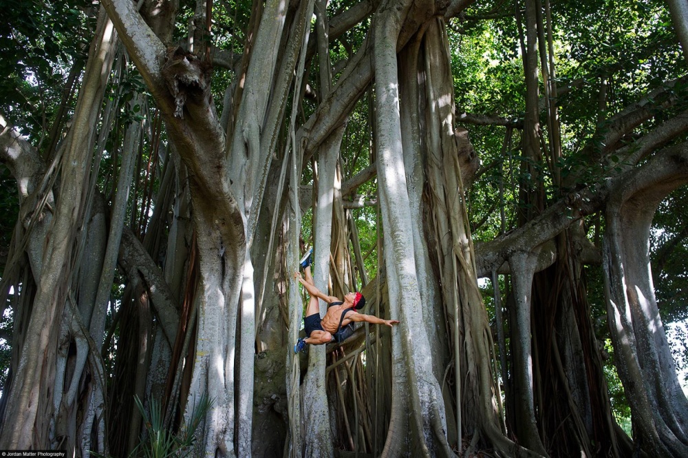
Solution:
[[[557,237],[556,262],[533,282],[537,420],[552,456],[622,457],[631,450],[614,428],[577,243],[583,230],[574,224]]]

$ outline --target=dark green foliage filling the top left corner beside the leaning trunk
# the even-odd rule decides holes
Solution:
[[[48,134],[72,65],[85,61],[86,0],[0,2],[0,111],[38,140]]]

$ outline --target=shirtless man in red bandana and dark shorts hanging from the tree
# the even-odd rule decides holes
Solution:
[[[305,324],[304,339],[299,339],[294,345],[294,353],[299,353],[305,348],[305,344],[322,345],[329,344],[333,340],[343,342],[346,337],[351,335],[353,330],[347,326],[352,322],[369,322],[371,324],[385,324],[392,327],[398,324],[397,320],[383,320],[373,315],[364,315],[356,310],[362,309],[365,305],[365,298],[361,293],[348,293],[341,301],[331,295],[323,294],[316,288],[313,276],[310,273],[311,256],[313,249],[309,249],[301,258],[301,267],[305,275],[305,280],[301,273],[294,272],[294,278],[299,280],[310,295],[308,309],[306,309],[303,323]],[[318,299],[322,299],[330,306],[327,308],[325,317],[320,319],[320,304]]]

